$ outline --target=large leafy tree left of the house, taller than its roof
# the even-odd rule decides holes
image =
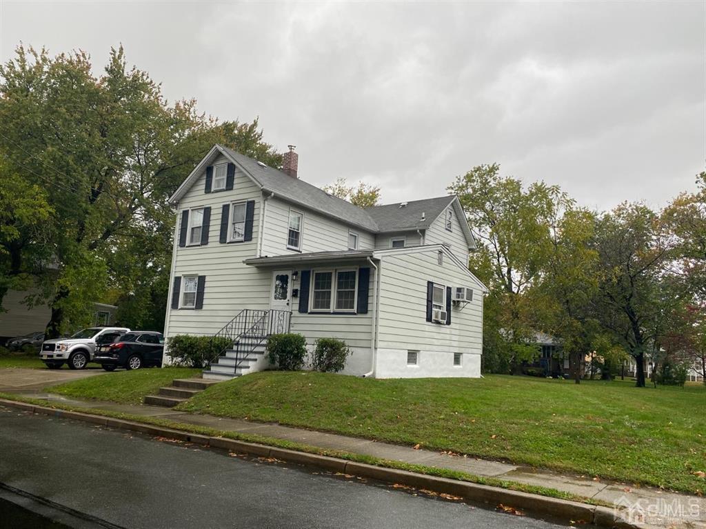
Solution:
[[[42,188],[52,210],[43,244],[54,271],[34,276],[34,301],[52,307],[50,336],[85,323],[109,288],[145,302],[163,287],[174,222],[167,198],[213,143],[268,165],[281,160],[257,121],[220,124],[193,100],[170,105],[147,73],[128,68],[122,48],[96,77],[83,52],[49,57],[20,46],[0,77],[7,170]]]

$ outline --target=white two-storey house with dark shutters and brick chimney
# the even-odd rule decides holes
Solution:
[[[280,171],[215,145],[170,202],[164,335],[235,341],[204,376],[265,369],[277,332],[345,340],[347,374],[480,376],[487,289],[456,196],[364,210],[298,179],[293,150]]]

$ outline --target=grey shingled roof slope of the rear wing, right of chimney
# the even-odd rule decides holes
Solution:
[[[456,198],[453,195],[439,196],[437,198],[424,198],[407,202],[407,206],[400,207],[405,202],[373,206],[365,210],[378,225],[381,232],[402,232],[405,230],[423,230],[438,218],[443,210]],[[424,220],[421,215],[424,213]]]

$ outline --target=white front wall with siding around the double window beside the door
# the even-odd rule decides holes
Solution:
[[[367,261],[347,261],[316,266],[298,266],[301,277],[302,270],[330,270],[333,268],[370,268],[369,301],[367,314],[304,314],[298,310],[299,299],[292,299],[292,320],[290,330],[306,337],[309,350],[318,338],[337,338],[344,340],[353,354],[348,357],[345,374],[364,374],[371,370],[371,339],[373,325],[373,285],[375,284],[375,268]],[[285,267],[286,268],[286,267]],[[294,288],[301,289],[301,283],[293,283]],[[309,292],[311,299],[311,292]]]

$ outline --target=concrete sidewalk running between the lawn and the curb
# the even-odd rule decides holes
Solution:
[[[284,427],[279,424],[263,424],[246,420],[214,417],[212,415],[197,415],[156,406],[76,400],[52,393],[28,392],[24,393],[24,395],[47,400],[50,403],[64,403],[79,408],[111,410],[132,415],[143,415],[145,417],[159,417],[174,422],[194,424],[223,431],[257,434],[275,439],[296,441],[318,448],[347,451],[404,463],[459,470],[477,476],[495,477],[528,485],[539,485],[571,494],[578,494],[594,500],[605,501],[609,504],[628,507],[628,509],[635,509],[638,513],[646,513],[648,519],[650,512],[676,514],[676,516],[670,516],[669,523],[664,523],[665,527],[669,525],[669,527],[674,528],[706,528],[706,499],[687,494],[675,494],[650,487],[635,487],[630,484],[606,482],[580,476],[560,475],[556,472],[510,465],[498,461],[450,456],[435,451],[415,450],[408,446],[324,432],[313,432],[306,429]],[[648,519],[645,521],[648,521]],[[659,525],[662,525],[662,523]]]

